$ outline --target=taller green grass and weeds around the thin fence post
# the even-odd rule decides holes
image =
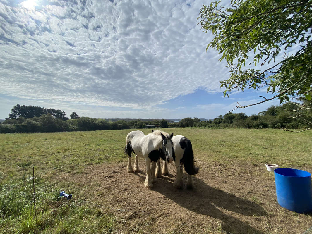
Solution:
[[[109,233],[115,218],[79,201],[67,201],[51,189],[53,184],[36,178],[35,215],[32,183],[11,181],[0,185],[0,233]],[[99,232],[99,230],[101,230]]]

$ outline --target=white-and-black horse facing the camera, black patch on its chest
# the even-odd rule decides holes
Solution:
[[[153,131],[145,135],[142,131],[132,131],[126,137],[126,146],[124,152],[128,154],[128,172],[133,172],[131,164],[131,153],[135,154],[134,171],[139,171],[138,157],[145,158],[146,178],[145,188],[151,189],[155,178],[156,162],[159,157],[164,161],[171,163],[173,159],[172,134],[164,131]],[[152,167],[151,167],[152,163]]]

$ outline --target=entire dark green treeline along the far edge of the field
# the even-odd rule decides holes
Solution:
[[[14,132],[62,132],[62,131],[93,131],[109,129],[145,128],[154,125],[160,128],[201,127],[201,128],[307,128],[312,123],[312,115],[297,110],[297,106],[285,103],[271,106],[258,115],[247,116],[244,113],[229,112],[215,119],[201,121],[198,118],[184,118],[178,123],[168,123],[166,119],[154,121],[118,120],[106,121],[90,117],[80,117],[73,112],[68,119],[61,110],[46,109],[34,106],[16,105],[4,122],[0,124],[0,133]],[[307,110],[304,110],[307,111]],[[29,117],[31,116],[31,117]]]

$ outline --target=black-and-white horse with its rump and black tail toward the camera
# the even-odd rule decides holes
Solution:
[[[153,130],[152,130],[153,132]],[[184,169],[186,173],[188,173],[188,178],[186,180],[186,188],[194,188],[194,181],[192,175],[198,173],[199,167],[195,167],[194,165],[194,154],[192,149],[192,144],[189,139],[182,135],[176,135],[171,138],[173,142],[173,150],[174,150],[174,163],[177,168],[177,177],[173,182],[173,187],[182,188],[183,180],[182,180],[182,166],[184,165]],[[167,162],[163,161],[163,168],[160,168],[160,162],[157,161],[157,168],[155,172],[156,177],[161,177],[161,174],[168,175],[168,165]]]

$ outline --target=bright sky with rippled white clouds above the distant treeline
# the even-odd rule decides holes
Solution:
[[[211,1],[0,0],[0,119],[33,105],[92,118],[214,119],[271,97],[232,92],[197,20]],[[223,1],[222,5],[229,1]],[[258,114],[278,100],[236,109]]]

